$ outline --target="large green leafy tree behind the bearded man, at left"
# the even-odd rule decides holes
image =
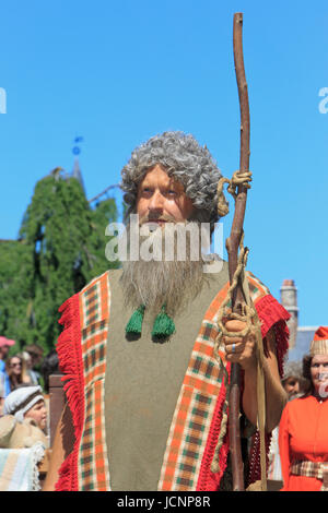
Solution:
[[[110,264],[105,228],[114,200],[92,210],[75,178],[52,171],[37,182],[20,241],[0,243],[0,334],[48,353],[61,331],[58,308]]]

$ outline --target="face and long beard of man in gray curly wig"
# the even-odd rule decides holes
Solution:
[[[198,229],[199,224],[191,220],[196,208],[181,183],[156,165],[139,183],[136,210],[141,229],[133,223],[128,229],[138,229],[140,258],[130,259],[122,265],[126,302],[133,308],[145,305],[151,315],[157,315],[166,305],[167,313],[173,315],[185,300],[199,293],[203,283],[202,260],[191,259],[190,249],[190,229],[195,226]],[[142,225],[149,230],[143,230]],[[184,244],[179,242],[184,237],[186,244],[181,249]],[[201,250],[199,239],[192,243],[194,253],[195,249]]]

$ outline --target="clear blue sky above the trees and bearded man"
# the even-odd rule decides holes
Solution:
[[[17,236],[37,180],[73,166],[87,198],[117,183],[131,151],[183,130],[225,176],[238,168],[233,13],[244,13],[250,104],[248,267],[279,298],[298,289],[300,324],[328,324],[328,5],[305,1],[12,0],[1,5],[0,238]],[[328,103],[327,103],[328,106]],[[232,216],[224,222],[229,235]]]

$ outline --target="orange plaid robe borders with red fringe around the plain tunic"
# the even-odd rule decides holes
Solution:
[[[57,350],[60,368],[66,374],[65,390],[72,411],[75,443],[61,466],[57,490],[110,490],[105,433],[105,373],[109,358],[106,348],[112,323],[115,329],[115,320],[110,320],[110,273],[108,271],[92,281],[60,308],[60,323],[65,330]],[[274,330],[282,374],[289,313],[254,275],[247,273],[247,277],[261,321],[262,337],[270,329]],[[220,487],[229,453],[227,436],[220,450],[218,472],[211,470],[211,462],[221,431],[225,377],[230,375],[231,366],[225,361],[224,348],[220,351],[223,362],[220,366],[213,355],[213,346],[218,336],[215,317],[227,289],[226,282],[212,299],[199,332],[195,334],[194,349],[163,454],[159,490],[211,491]],[[256,433],[249,457],[248,482],[259,477],[259,436]]]

